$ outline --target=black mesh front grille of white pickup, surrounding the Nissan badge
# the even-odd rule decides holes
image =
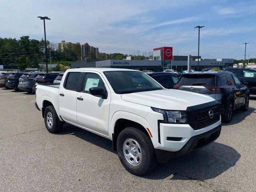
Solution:
[[[209,111],[213,111],[213,117],[210,118]],[[207,108],[198,113],[198,129],[204,128],[220,120],[220,107]]]

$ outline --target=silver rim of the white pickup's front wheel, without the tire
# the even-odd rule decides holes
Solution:
[[[134,166],[137,166],[142,161],[142,149],[140,144],[132,139],[128,138],[124,141],[123,152],[126,160]]]

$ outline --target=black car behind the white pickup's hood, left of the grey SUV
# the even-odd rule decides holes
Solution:
[[[153,72],[153,73],[146,73],[158,83],[160,83],[164,88],[172,89],[174,85],[177,84],[179,78],[175,74],[170,72]]]

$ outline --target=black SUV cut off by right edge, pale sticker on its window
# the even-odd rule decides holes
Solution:
[[[234,73],[242,83],[247,82],[250,94],[256,94],[256,71],[254,69],[225,68],[224,70]]]

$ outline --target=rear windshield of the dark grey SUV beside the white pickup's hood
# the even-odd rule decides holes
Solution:
[[[179,85],[184,86],[215,86],[216,75],[214,74],[184,74],[180,78]]]

